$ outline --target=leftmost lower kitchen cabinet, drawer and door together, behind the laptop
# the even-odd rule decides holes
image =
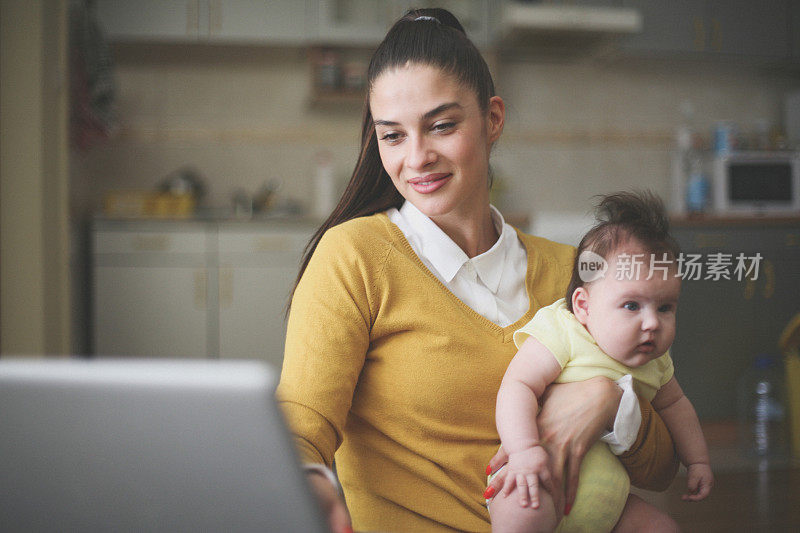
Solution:
[[[128,231],[102,225],[92,243],[95,354],[208,354],[208,247],[203,228]]]

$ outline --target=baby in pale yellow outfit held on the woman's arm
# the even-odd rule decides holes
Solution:
[[[497,395],[497,429],[509,459],[502,498],[489,504],[493,531],[638,529],[636,523],[643,518],[651,526],[674,525],[629,494],[628,476],[603,442],[587,452],[575,504],[559,524],[552,497],[540,490],[550,486],[549,459],[536,417],[530,415],[553,382],[632,375],[634,390],[652,402],[688,468],[683,498],[699,501],[711,490],[714,477],[700,423],[667,352],[675,338],[680,292],[679,248],[668,231],[664,206],[656,196],[604,197],[598,223],[578,247],[566,298],[540,309],[515,332],[518,352]],[[515,487],[519,504],[500,501]]]

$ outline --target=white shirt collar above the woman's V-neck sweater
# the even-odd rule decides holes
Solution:
[[[503,215],[494,206],[490,206],[490,209],[492,222],[500,237],[489,250],[471,260],[439,226],[417,209],[414,204],[404,202],[399,211],[418,239],[420,254],[430,262],[447,283],[455,278],[465,263],[471,261],[483,284],[490,291],[496,293],[502,279],[508,247],[513,244],[511,238],[513,236]]]

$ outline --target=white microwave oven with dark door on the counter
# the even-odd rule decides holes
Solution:
[[[800,153],[733,152],[715,157],[712,173],[718,213],[800,212]]]

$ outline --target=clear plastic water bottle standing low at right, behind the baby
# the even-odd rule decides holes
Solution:
[[[739,381],[739,440],[749,457],[788,458],[785,378],[780,358],[759,355]]]

